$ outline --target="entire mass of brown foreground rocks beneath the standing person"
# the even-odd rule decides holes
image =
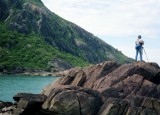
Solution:
[[[0,102],[0,115],[160,115],[160,67],[107,61],[59,73],[41,94]]]

